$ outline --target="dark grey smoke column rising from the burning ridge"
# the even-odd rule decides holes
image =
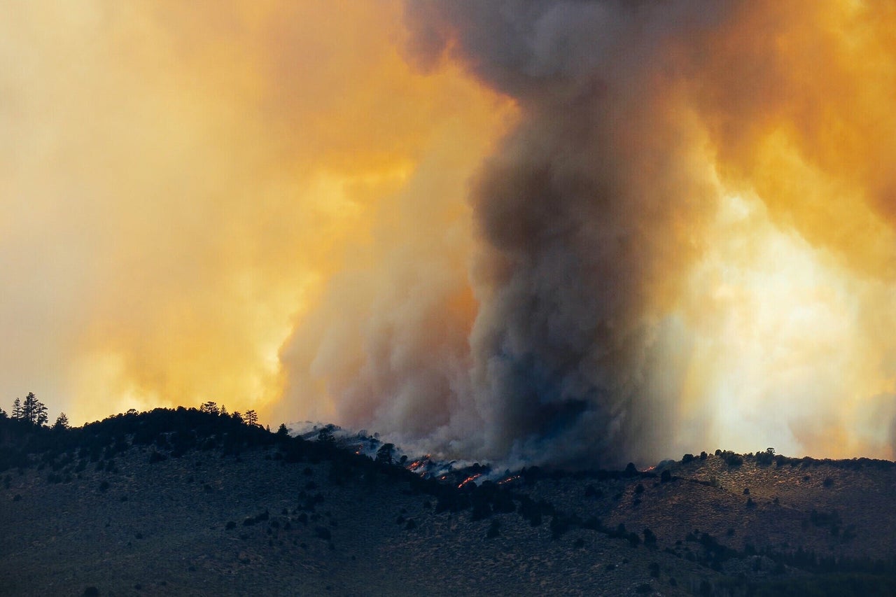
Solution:
[[[672,448],[681,380],[664,317],[714,201],[676,52],[723,11],[407,4],[412,61],[460,61],[521,108],[470,199],[485,454],[594,465]]]

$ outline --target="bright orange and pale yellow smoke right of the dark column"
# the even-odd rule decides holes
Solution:
[[[686,394],[716,442],[893,456],[893,16],[744,4],[694,57],[722,203],[685,295]]]

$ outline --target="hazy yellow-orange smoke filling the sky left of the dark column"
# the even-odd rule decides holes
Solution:
[[[379,259],[402,188],[469,243],[463,180],[507,107],[457,69],[414,72],[397,3],[4,13],[6,402],[33,390],[76,423],[205,400],[270,413],[280,345],[334,273]]]

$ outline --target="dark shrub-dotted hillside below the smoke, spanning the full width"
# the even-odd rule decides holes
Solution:
[[[0,593],[896,591],[889,462],[719,453],[424,479],[350,444],[193,409],[0,420]]]

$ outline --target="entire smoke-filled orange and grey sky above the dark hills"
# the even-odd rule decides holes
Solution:
[[[892,458],[896,8],[0,6],[0,403]]]

